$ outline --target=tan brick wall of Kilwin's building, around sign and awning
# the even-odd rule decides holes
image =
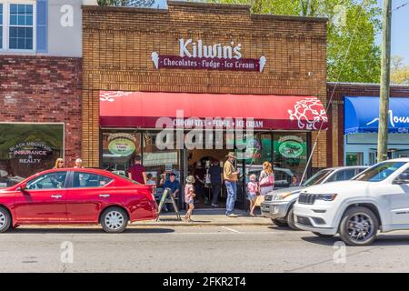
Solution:
[[[244,5],[169,2],[168,10],[84,6],[83,156],[100,165],[99,92],[308,95],[326,104],[326,19],[251,15]],[[265,55],[263,74],[157,70],[151,54],[178,55],[178,40],[243,45]],[[314,139],[315,133],[312,134]],[[321,135],[314,166],[326,166]]]

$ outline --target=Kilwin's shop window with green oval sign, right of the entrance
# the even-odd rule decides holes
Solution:
[[[275,185],[291,185],[293,176],[300,181],[307,166],[307,134],[274,134]]]

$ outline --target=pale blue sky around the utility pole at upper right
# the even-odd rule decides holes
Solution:
[[[378,5],[383,7],[384,1],[378,0]],[[395,9],[400,5],[409,3],[409,0],[392,0]],[[377,43],[382,43],[382,34],[377,35]],[[404,57],[404,63],[409,65],[409,5],[395,10],[392,15],[392,55]]]

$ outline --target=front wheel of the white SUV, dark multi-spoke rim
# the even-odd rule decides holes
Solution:
[[[341,239],[350,246],[368,246],[374,242],[379,220],[366,207],[353,207],[345,212],[339,229]]]

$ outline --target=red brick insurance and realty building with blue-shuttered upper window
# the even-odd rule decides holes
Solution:
[[[82,0],[0,0],[0,187],[81,156]]]

